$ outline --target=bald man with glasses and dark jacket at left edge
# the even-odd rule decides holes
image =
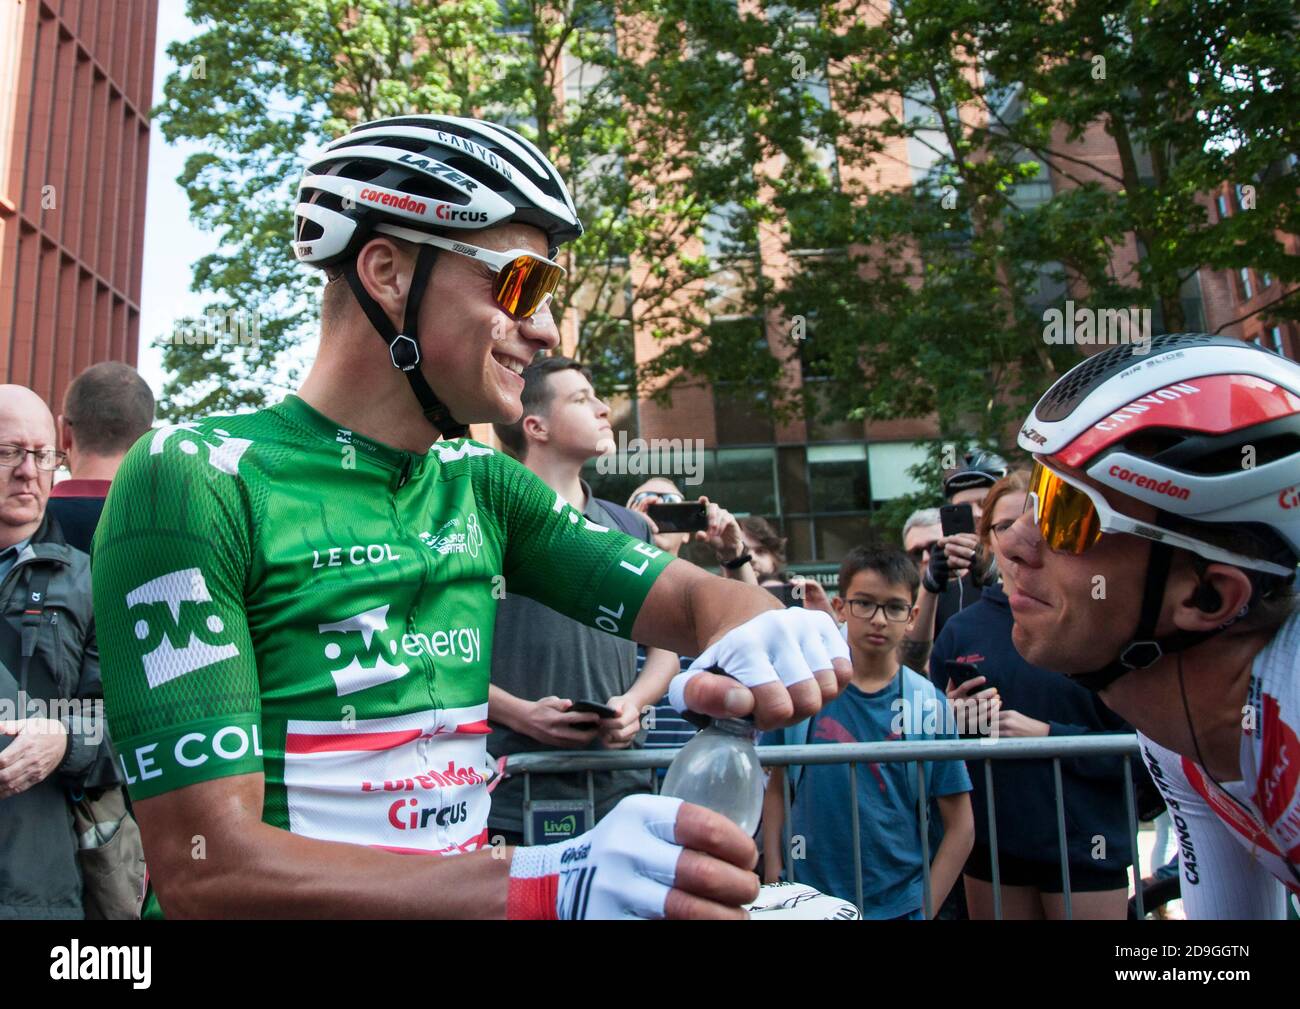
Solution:
[[[64,455],[44,400],[0,385],[0,918],[82,918],[69,792],[114,784],[90,558],[46,514]]]

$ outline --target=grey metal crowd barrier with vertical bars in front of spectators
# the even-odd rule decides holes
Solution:
[[[510,757],[507,772],[524,778],[524,801],[530,796],[534,774],[586,771],[588,797],[594,797],[592,775],[595,771],[640,771],[667,767],[677,755],[676,749],[656,750],[550,750],[547,753],[517,753]],[[993,796],[993,761],[1050,759],[1054,778],[1057,841],[1061,853],[1061,880],[1063,884],[1065,913],[1072,919],[1070,900],[1070,856],[1066,845],[1065,801],[1061,793],[1061,761],[1071,757],[1140,757],[1138,737],[1132,733],[1089,733],[1087,736],[1054,736],[1048,739],[975,739],[975,740],[898,740],[889,742],[826,742],[802,746],[759,746],[759,761],[764,767],[789,765],[848,763],[849,809],[853,810],[853,866],[858,911],[862,908],[862,835],[858,830],[858,765],[916,761],[916,783],[920,807],[920,853],[924,884],[924,914],[933,914],[933,895],[930,885],[930,797],[926,792],[926,771],[920,761],[968,761],[984,765],[984,791],[988,804],[989,853],[993,863],[993,917],[1002,918],[1002,893],[997,856],[997,805]],[[970,768],[974,774],[974,767]],[[797,879],[790,844],[790,776],[784,787],[784,844],[789,879]],[[659,789],[659,776],[651,775],[654,791]],[[1132,844],[1134,882],[1138,917],[1143,918],[1141,866],[1138,850],[1138,806],[1134,798],[1131,759],[1124,761],[1124,806],[1128,814],[1128,839]],[[1153,867],[1154,869],[1154,867]],[[959,879],[958,879],[959,883]]]

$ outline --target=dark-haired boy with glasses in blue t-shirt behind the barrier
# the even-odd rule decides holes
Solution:
[[[916,568],[901,550],[859,546],[840,564],[832,606],[849,631],[853,680],[807,722],[768,732],[768,745],[956,739],[948,707],[924,675],[898,661],[898,644],[915,619]],[[853,865],[848,763],[790,767],[790,865],[796,879],[855,901],[864,918],[933,915],[961,874],[975,837],[970,778],[961,761],[924,762],[926,797],[937,798],[942,841],[931,852],[924,893],[916,768],[910,762],[858,766],[861,875]],[[763,879],[783,875],[785,768],[774,768],[763,805]],[[801,857],[802,856],[802,857]],[[792,872],[793,870],[793,872]],[[861,889],[859,889],[861,882]]]

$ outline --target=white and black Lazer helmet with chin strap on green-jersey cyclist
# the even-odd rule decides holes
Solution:
[[[550,254],[582,234],[564,181],[514,130],[459,116],[396,116],[363,122],[313,157],[298,186],[294,255],[341,267],[358,303],[404,372],[424,415],[446,437],[465,433],[425,381],[416,322],[437,250],[420,244],[399,333],[365,291],[356,254],[378,225],[455,235],[520,222],[546,234]]]

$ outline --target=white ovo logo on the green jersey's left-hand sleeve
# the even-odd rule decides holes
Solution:
[[[126,607],[146,649],[140,662],[150,689],[239,654],[229,638],[222,640],[226,625],[199,568],[146,581],[126,593]]]

